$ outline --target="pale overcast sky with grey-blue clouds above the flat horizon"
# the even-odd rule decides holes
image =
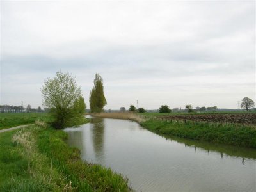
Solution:
[[[105,109],[237,108],[255,98],[255,1],[1,1],[0,104],[42,106],[40,88],[95,73]]]

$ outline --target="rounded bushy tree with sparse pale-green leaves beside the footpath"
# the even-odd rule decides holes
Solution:
[[[81,97],[75,76],[57,72],[56,77],[45,81],[41,89],[43,105],[50,108],[56,120],[54,127],[61,129],[76,115],[75,104]]]

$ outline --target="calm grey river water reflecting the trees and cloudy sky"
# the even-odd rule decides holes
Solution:
[[[254,149],[164,138],[129,120],[65,131],[82,159],[122,173],[136,191],[256,191]]]

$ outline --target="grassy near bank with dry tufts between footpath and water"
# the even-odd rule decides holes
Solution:
[[[65,139],[44,122],[0,134],[0,191],[129,191],[122,175],[84,163]]]

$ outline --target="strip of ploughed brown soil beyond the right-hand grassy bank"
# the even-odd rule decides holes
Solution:
[[[164,115],[160,119],[191,120],[196,122],[228,122],[237,124],[256,125],[256,113],[227,113],[227,114],[191,114],[191,115]]]

